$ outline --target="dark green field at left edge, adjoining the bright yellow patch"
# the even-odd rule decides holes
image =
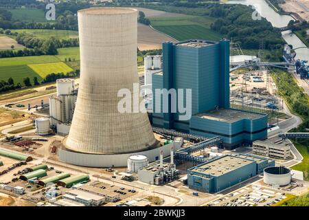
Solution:
[[[23,78],[27,76],[30,80],[33,80],[34,76],[36,76],[39,81],[42,80],[42,78],[27,65],[0,67],[0,80],[8,81],[8,78],[12,77],[15,84],[21,83],[23,85]]]

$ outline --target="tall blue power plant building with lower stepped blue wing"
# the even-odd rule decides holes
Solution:
[[[184,113],[179,109],[171,111],[174,103],[171,98],[168,98],[169,111],[163,112],[163,98],[155,96],[156,89],[192,89],[190,120],[180,120]],[[185,93],[183,103],[187,104]],[[227,40],[163,43],[163,72],[152,74],[152,94],[153,126],[204,137],[218,136],[229,149],[267,137],[267,115],[230,109]],[[156,106],[160,104],[158,112]]]

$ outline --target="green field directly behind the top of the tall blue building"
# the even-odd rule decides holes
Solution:
[[[220,34],[211,30],[214,19],[209,17],[181,16],[181,17],[154,17],[150,18],[151,25],[156,30],[172,36],[178,41],[187,39],[207,39],[218,41]]]

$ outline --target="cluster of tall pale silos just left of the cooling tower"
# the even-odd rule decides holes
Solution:
[[[67,135],[73,118],[77,91],[71,78],[58,79],[56,86],[57,94],[49,97],[50,123],[57,129],[58,134]]]

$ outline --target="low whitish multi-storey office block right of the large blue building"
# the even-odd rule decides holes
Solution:
[[[257,140],[253,142],[253,154],[274,159],[288,159],[290,157],[290,143],[282,138]]]

